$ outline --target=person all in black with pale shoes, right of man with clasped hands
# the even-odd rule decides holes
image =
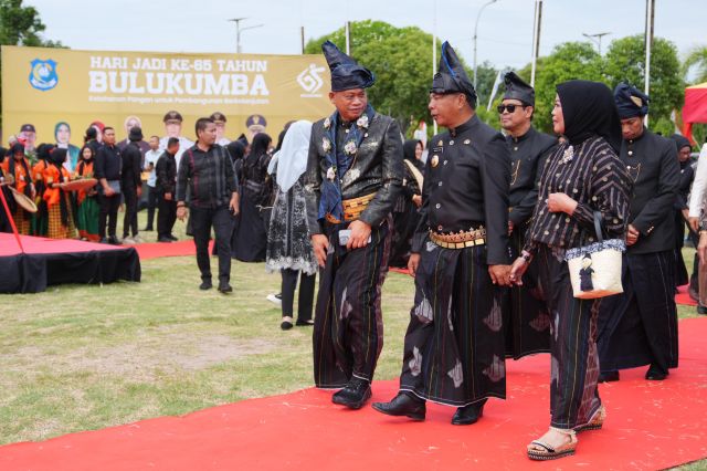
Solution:
[[[143,195],[143,129],[134,127],[128,136],[130,143],[123,150],[122,186],[125,198],[125,217],[123,218],[123,243],[143,242],[137,233],[137,200]],[[133,237],[128,237],[128,231]]]

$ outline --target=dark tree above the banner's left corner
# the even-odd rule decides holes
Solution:
[[[34,7],[23,7],[22,0],[0,0],[0,45],[28,45],[65,48],[60,41],[48,41],[40,36],[46,27]],[[2,62],[0,59],[0,74]],[[0,92],[2,84],[0,83]],[[0,126],[2,104],[0,103]]]

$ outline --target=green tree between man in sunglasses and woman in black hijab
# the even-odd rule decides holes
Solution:
[[[601,81],[601,56],[585,42],[562,43],[550,55],[539,57],[535,75],[535,126],[552,133],[551,112],[559,83],[577,78]],[[518,71],[518,75],[530,83],[530,64]]]

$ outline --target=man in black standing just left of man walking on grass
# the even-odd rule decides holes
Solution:
[[[155,172],[157,180],[157,241],[173,242],[172,227],[177,219],[177,161],[175,156],[179,151],[179,138],[170,137],[167,140],[167,150],[157,160]]]

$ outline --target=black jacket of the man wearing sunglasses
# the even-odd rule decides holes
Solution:
[[[557,138],[539,133],[532,126],[519,137],[506,136],[510,147],[510,208],[508,219],[520,227],[532,216],[538,202],[538,185],[548,155]]]

